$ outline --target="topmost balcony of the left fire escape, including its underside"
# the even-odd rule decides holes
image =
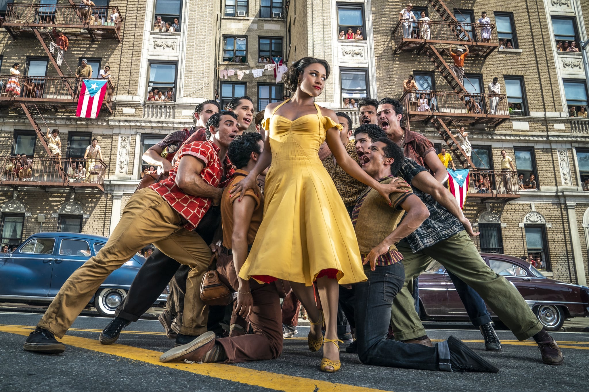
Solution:
[[[118,18],[110,22],[115,9]],[[32,28],[44,31],[47,28],[63,29],[68,38],[116,39],[121,42],[123,18],[115,6],[93,6],[86,15],[87,8],[72,5],[8,4],[4,28],[16,39],[34,34]],[[88,23],[94,17],[94,24]],[[47,31],[47,30],[45,30]]]

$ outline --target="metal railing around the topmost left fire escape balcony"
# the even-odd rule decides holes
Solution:
[[[90,12],[88,12],[90,11]],[[114,22],[111,15],[117,14]],[[92,21],[92,24],[90,22]],[[64,28],[107,28],[121,34],[123,17],[116,6],[81,8],[71,5],[7,4],[5,28],[11,26],[57,26]]]

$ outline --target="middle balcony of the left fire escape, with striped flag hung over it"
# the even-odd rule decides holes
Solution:
[[[10,97],[6,92],[6,84],[11,75],[0,75],[0,107],[19,107],[20,104],[35,104],[38,108],[53,109],[56,108],[75,108],[78,104],[80,95],[80,84],[82,79],[75,77],[28,77],[21,75],[18,82],[21,85],[21,94]],[[104,79],[101,79],[104,80]],[[31,86],[28,89],[26,86]],[[112,113],[112,97],[114,87],[108,81],[107,92],[102,101],[102,107],[107,108]]]

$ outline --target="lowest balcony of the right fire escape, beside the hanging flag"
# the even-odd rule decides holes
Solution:
[[[504,174],[501,170],[471,169],[468,178],[466,200],[470,198],[481,202],[519,198],[517,171]]]

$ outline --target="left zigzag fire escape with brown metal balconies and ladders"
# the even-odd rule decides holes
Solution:
[[[88,168],[89,173],[86,178],[75,178],[72,175],[72,168],[75,167],[76,161],[62,158],[61,161],[53,156],[48,147],[45,130],[47,124],[41,114],[42,111],[59,112],[60,114],[72,116],[72,109],[77,108],[78,99],[80,98],[81,79],[75,77],[75,68],[73,70],[67,64],[65,59],[59,65],[58,52],[51,51],[52,43],[55,42],[55,32],[61,30],[64,35],[76,44],[84,41],[108,40],[112,39],[121,42],[121,26],[123,19],[116,6],[93,6],[91,9],[80,8],[73,0],[68,0],[69,4],[65,5],[44,5],[31,3],[14,3],[6,6],[6,16],[4,28],[18,44],[19,38],[37,38],[44,49],[49,62],[53,65],[54,75],[28,76],[23,75],[24,67],[21,67],[21,75],[18,82],[21,85],[21,94],[8,94],[6,83],[0,91],[0,107],[16,110],[20,109],[25,117],[31,123],[41,145],[47,156],[34,158],[31,166],[31,176],[29,184],[39,184],[42,187],[96,187],[104,191],[104,177],[107,166],[101,160],[96,160],[95,165]],[[112,21],[111,15],[117,14]],[[90,23],[94,20],[94,23]],[[67,53],[67,52],[66,52]],[[11,75],[0,75],[0,80],[7,81]],[[25,85],[34,85],[32,91],[24,89]],[[112,97],[114,87],[111,81],[107,83],[107,92],[102,102],[102,107],[112,114]],[[39,123],[44,124],[42,127]],[[64,146],[65,147],[65,146]],[[5,168],[11,164],[10,157],[0,158],[3,172],[8,173]],[[100,161],[100,162],[98,162]],[[11,186],[23,186],[26,176],[6,174],[0,184]],[[35,180],[35,181],[32,181]]]

